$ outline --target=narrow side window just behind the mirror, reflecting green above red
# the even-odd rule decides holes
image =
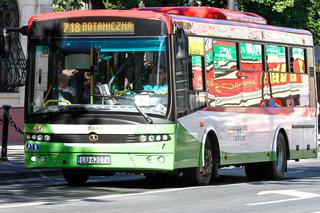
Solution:
[[[203,91],[204,90],[204,69],[203,69],[203,57],[192,56],[192,90]]]

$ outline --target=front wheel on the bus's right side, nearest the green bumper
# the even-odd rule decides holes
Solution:
[[[206,140],[204,160],[205,162],[203,167],[189,168],[183,172],[183,176],[188,183],[198,186],[205,186],[210,184],[214,159],[211,143],[209,140]]]

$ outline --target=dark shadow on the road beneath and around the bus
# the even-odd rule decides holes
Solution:
[[[320,170],[316,166],[301,165],[289,168],[288,175],[282,181],[249,182],[246,179],[243,168],[222,169],[220,178],[212,185],[232,185],[247,183],[250,185],[319,185]],[[62,177],[36,178],[1,184],[0,206],[13,203],[44,202],[45,204],[69,202],[72,199],[87,200],[90,202],[102,202],[93,199],[99,196],[113,196],[144,193],[153,190],[179,189],[190,187],[182,176],[176,178],[147,179],[143,175],[117,174],[112,177],[92,177],[83,186],[73,187],[66,184]],[[103,199],[103,202],[112,202],[112,199]]]

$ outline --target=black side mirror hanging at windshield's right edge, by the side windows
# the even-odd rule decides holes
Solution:
[[[177,60],[188,59],[189,57],[189,42],[188,36],[182,27],[177,25],[175,39],[175,54]]]

